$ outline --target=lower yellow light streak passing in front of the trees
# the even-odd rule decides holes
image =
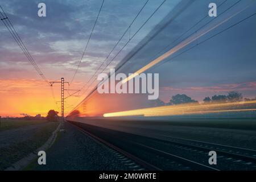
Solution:
[[[118,111],[114,113],[105,113],[104,117],[126,117],[126,116],[144,116],[157,117],[168,115],[189,115],[189,114],[210,114],[239,111],[256,111],[255,101],[240,102],[211,102],[211,103],[193,103],[170,106],[149,107],[144,109]]]

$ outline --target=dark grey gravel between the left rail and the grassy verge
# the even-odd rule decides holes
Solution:
[[[129,170],[112,151],[97,143],[70,123],[65,133],[46,151],[46,165],[36,164],[35,170]]]

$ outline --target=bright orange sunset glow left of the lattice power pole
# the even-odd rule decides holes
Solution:
[[[42,114],[46,116],[49,108],[58,110],[50,88],[39,80],[0,80],[4,89],[0,90],[0,115],[21,117]],[[15,103],[15,104],[14,104]]]

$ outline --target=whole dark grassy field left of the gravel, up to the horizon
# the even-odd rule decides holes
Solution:
[[[2,121],[0,131],[0,170],[10,167],[41,147],[59,122],[36,120]]]

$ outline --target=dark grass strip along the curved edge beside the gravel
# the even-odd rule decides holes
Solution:
[[[41,147],[51,136],[57,125],[59,125],[59,122],[49,122],[47,125],[40,126],[40,130],[34,133],[30,139],[0,148],[0,170],[10,167],[11,164]]]

